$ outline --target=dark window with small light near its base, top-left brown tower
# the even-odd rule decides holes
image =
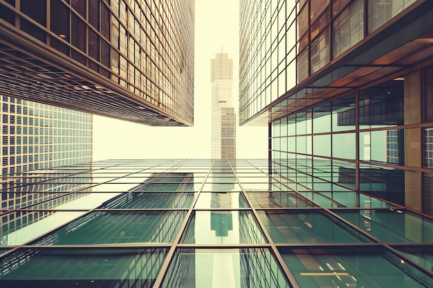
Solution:
[[[69,10],[61,1],[51,1],[50,29],[55,35],[69,41]]]

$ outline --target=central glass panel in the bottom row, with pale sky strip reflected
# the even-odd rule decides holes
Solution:
[[[163,288],[292,287],[268,249],[178,249]]]

